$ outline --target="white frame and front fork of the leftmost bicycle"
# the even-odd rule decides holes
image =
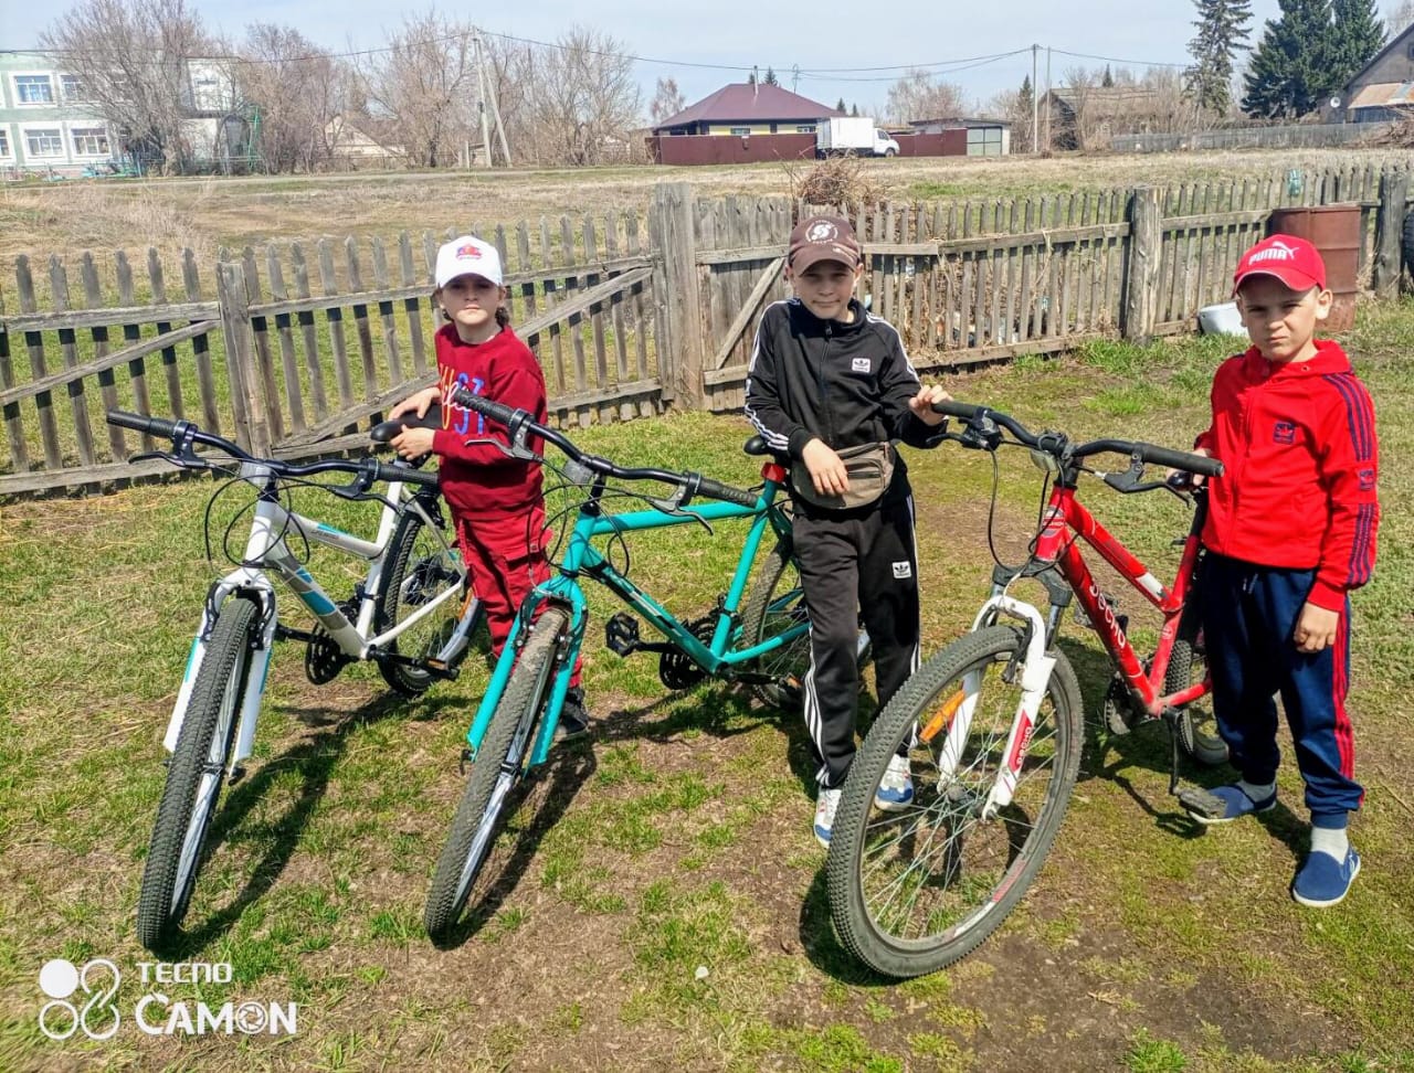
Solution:
[[[191,701],[191,693],[197,683],[197,673],[201,670],[202,659],[206,655],[206,639],[211,636],[222,605],[235,594],[255,597],[260,605],[260,629],[259,643],[250,663],[253,688],[246,691],[245,705],[239,715],[236,746],[230,754],[232,768],[250,755],[255,744],[256,715],[260,710],[266,679],[270,673],[270,656],[276,639],[276,626],[279,625],[279,605],[274,585],[270,581],[271,574],[290,587],[290,591],[310,609],[320,625],[328,632],[328,636],[349,659],[368,659],[369,652],[387,645],[421,618],[436,611],[444,601],[460,595],[457,588],[448,588],[438,598],[419,608],[392,629],[370,638],[369,631],[373,626],[375,605],[383,585],[383,554],[397,524],[399,510],[387,506],[383,508],[379,517],[378,536],[369,541],[305,517],[304,515],[286,510],[276,495],[269,467],[257,462],[243,462],[240,478],[260,489],[255,517],[250,522],[250,534],[246,539],[246,550],[242,556],[245,565],[238,567],[216,581],[206,597],[201,626],[187,656],[187,669],[182,672],[181,688],[177,691],[177,701],[167,721],[167,734],[163,738],[163,746],[167,752],[173,752],[177,748],[177,737],[181,732],[182,721],[187,717],[187,705]],[[431,519],[423,510],[416,496],[409,498],[406,502],[402,499],[403,489],[403,483],[390,482],[387,486],[389,502],[402,503],[402,510],[419,512],[423,520],[436,530],[436,526],[431,524]],[[297,533],[311,543],[331,547],[370,564],[361,587],[356,621],[349,621],[339,605],[329,598],[320,582],[296,558],[286,543],[286,537],[290,533]]]

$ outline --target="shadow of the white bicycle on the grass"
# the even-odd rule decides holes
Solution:
[[[417,713],[409,718],[416,721],[436,718],[440,708],[450,704],[460,704],[460,701],[455,697],[423,698],[419,701]],[[247,816],[259,809],[277,778],[287,772],[298,775],[298,797],[283,816],[263,824],[263,828],[269,831],[264,852],[250,867],[249,878],[235,899],[195,925],[188,916],[185,927],[154,953],[170,958],[189,958],[229,932],[245,910],[274,886],[276,879],[288,865],[294,848],[310,823],[310,816],[328,789],[329,775],[348,748],[349,737],[356,729],[397,714],[406,707],[406,698],[389,693],[375,697],[352,711],[346,708],[286,708],[291,717],[301,722],[328,729],[305,738],[288,752],[262,763],[253,776],[228,783],[226,792],[216,802],[216,816],[202,851],[202,864],[226,841],[232,831],[239,828]],[[199,871],[195,882],[201,884]]]

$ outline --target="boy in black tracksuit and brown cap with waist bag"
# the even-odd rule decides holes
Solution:
[[[874,643],[882,705],[918,667],[918,561],[913,499],[901,458],[874,502],[836,509],[812,499],[848,493],[837,451],[894,440],[939,444],[945,418],[932,403],[949,397],[919,382],[898,331],[854,298],[863,273],[847,221],[802,221],[790,233],[786,266],[796,297],[762,314],[747,380],[747,416],[792,464],[795,554],[810,614],[805,717],[820,762],[814,833],[824,845],[854,759],[858,612],[863,606]],[[884,450],[892,454],[891,445]],[[898,756],[875,803],[902,809],[912,797],[908,758]]]

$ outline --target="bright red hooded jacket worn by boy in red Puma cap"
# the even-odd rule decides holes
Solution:
[[[1213,377],[1213,421],[1198,447],[1223,462],[1203,544],[1258,565],[1315,568],[1307,597],[1331,611],[1370,580],[1380,524],[1374,406],[1339,344],[1307,362],[1253,346]]]

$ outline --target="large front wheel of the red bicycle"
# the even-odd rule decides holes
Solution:
[[[854,758],[826,865],[830,915],[844,946],[881,974],[923,975],[971,953],[1025,895],[1060,828],[1083,725],[1080,686],[1059,653],[1015,796],[995,819],[983,819],[1019,700],[1019,681],[1008,686],[1000,672],[1022,645],[1022,631],[1010,625],[959,638],[908,680]],[[957,763],[943,775],[939,754],[959,729],[959,686],[967,674],[981,676],[977,701]],[[945,715],[947,722],[923,742],[922,731]],[[874,793],[905,742],[912,745],[913,802],[878,810]],[[922,855],[913,858],[919,841]],[[878,901],[875,886],[887,901]]]

